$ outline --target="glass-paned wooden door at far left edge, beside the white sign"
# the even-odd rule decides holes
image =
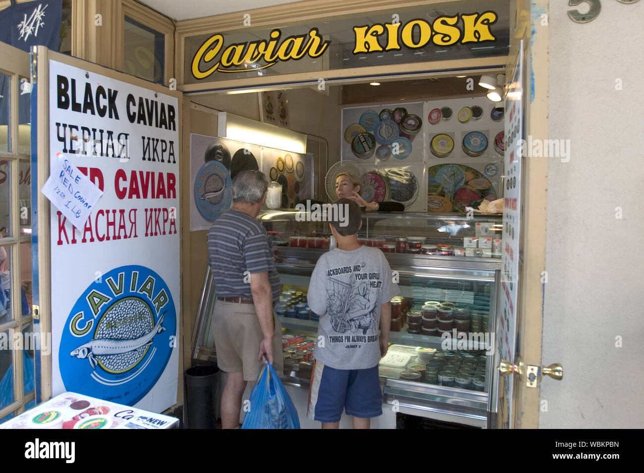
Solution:
[[[37,398],[31,308],[30,55],[0,42],[0,423]],[[36,320],[34,320],[36,319]]]

